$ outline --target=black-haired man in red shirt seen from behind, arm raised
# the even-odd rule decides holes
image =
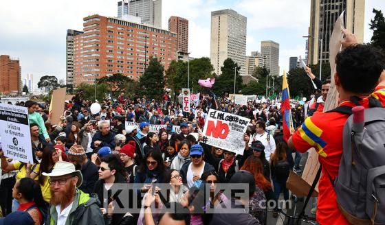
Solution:
[[[336,57],[337,72],[334,75],[340,94],[340,106],[355,104],[352,96],[361,98],[360,104],[369,108],[369,97],[375,97],[385,106],[385,56],[379,49],[369,45],[355,45],[353,34],[343,30],[346,38],[342,45],[347,47]],[[373,92],[374,91],[374,92]],[[322,165],[319,181],[317,221],[319,224],[349,224],[338,209],[336,192],[331,178],[338,176],[342,156],[342,132],[349,115],[340,112],[315,112],[290,137],[291,149],[306,152],[314,147]]]

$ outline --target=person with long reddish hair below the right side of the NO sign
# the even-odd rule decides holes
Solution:
[[[241,170],[250,171],[254,175],[256,191],[254,196],[250,198],[250,214],[256,217],[261,224],[265,224],[267,217],[266,200],[275,200],[275,198],[271,183],[263,175],[263,163],[257,156],[250,156],[243,163]]]

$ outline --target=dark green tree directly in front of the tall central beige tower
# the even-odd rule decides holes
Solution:
[[[234,69],[236,70],[234,71]],[[242,89],[242,78],[239,75],[239,70],[241,67],[238,66],[231,58],[227,58],[223,62],[223,67],[221,67],[222,74],[215,79],[215,84],[212,86],[212,91],[218,96],[223,96],[226,93],[234,93],[234,73],[236,74],[235,81],[235,93],[239,93]]]

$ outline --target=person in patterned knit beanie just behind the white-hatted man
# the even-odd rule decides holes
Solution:
[[[85,193],[93,193],[95,182],[98,180],[98,167],[87,158],[82,145],[72,145],[68,150],[68,161],[82,173],[83,184],[79,189]]]

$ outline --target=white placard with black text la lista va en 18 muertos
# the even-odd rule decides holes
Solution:
[[[0,104],[0,127],[4,155],[23,163],[33,163],[28,109]]]

